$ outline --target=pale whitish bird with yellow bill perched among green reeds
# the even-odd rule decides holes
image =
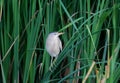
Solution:
[[[51,56],[51,66],[53,57],[57,59],[60,51],[62,51],[62,42],[59,38],[59,36],[62,34],[63,32],[51,32],[48,34],[48,37],[46,38],[46,50],[48,54]]]

